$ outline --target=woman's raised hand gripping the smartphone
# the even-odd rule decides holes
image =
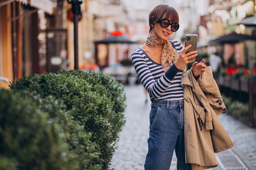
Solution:
[[[189,53],[186,53],[186,51],[191,47],[192,45],[188,45],[186,46],[182,53],[180,53],[180,56],[178,57],[178,59],[174,62],[175,66],[182,70],[186,64],[194,62],[194,60],[189,60],[193,57],[198,56],[198,51],[190,51]],[[185,54],[186,53],[186,54]]]

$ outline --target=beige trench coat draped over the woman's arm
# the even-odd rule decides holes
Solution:
[[[197,79],[189,70],[181,80],[184,87],[184,139],[186,163],[192,170],[218,166],[214,152],[234,146],[218,115],[225,113],[218,86],[211,67]]]

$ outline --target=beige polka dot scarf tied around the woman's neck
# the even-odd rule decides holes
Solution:
[[[148,35],[146,40],[146,45],[154,48],[159,45],[164,44],[164,49],[162,51],[161,64],[164,72],[177,60],[179,53],[173,48],[171,42],[167,40],[157,40],[152,34]],[[183,70],[184,72],[184,70]]]

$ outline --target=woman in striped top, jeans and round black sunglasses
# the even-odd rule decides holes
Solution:
[[[145,170],[169,170],[173,151],[177,156],[177,170],[190,170],[184,155],[184,98],[181,78],[189,59],[197,51],[185,52],[180,42],[168,41],[179,29],[179,16],[173,7],[161,4],[149,15],[149,35],[141,47],[132,52],[132,62],[151,99],[150,132]],[[194,77],[205,71],[204,59],[194,62]]]

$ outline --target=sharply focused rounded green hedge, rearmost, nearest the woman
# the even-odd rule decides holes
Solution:
[[[124,87],[114,77],[103,73],[59,71],[24,77],[10,85],[13,91],[36,91],[41,98],[61,99],[74,121],[79,121],[85,134],[100,152],[91,165],[108,169],[118,133],[124,125]],[[86,151],[85,151],[86,152]],[[89,161],[91,162],[91,161]]]

